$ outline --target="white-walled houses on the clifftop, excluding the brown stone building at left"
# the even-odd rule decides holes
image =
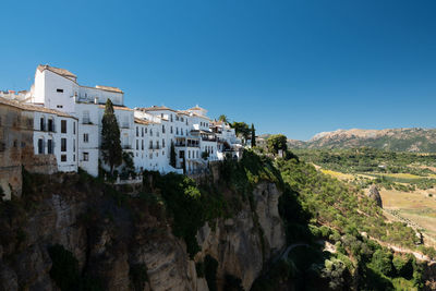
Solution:
[[[182,172],[184,165],[186,172],[193,173],[208,161],[223,159],[225,150],[235,151],[241,146],[234,130],[215,124],[206,109],[130,109],[119,88],[78,85],[76,75],[64,69],[38,65],[31,90],[14,96],[52,110],[35,113],[34,146],[35,154],[52,151],[60,171],[76,171],[80,167],[96,177],[99,165],[108,169],[100,162],[101,119],[108,99],[114,105],[121,146],[132,154],[136,171]],[[64,113],[56,114],[59,111]],[[175,168],[170,166],[171,144]]]

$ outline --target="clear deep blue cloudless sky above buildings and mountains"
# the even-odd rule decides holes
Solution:
[[[434,0],[10,1],[0,89],[36,65],[125,92],[130,107],[199,105],[257,133],[436,128]]]

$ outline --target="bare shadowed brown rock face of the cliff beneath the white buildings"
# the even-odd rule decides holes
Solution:
[[[68,193],[55,191],[31,205],[2,206],[0,290],[59,290],[50,278],[48,247],[55,244],[72,252],[81,272],[99,278],[105,290],[133,290],[132,268],[141,264],[148,277],[144,290],[208,290],[195,268],[206,255],[218,262],[218,289],[226,275],[232,275],[249,290],[264,263],[284,247],[280,192],[274,183],[255,187],[255,211],[245,205],[232,218],[206,223],[197,233],[202,251],[194,259],[168,220],[149,207],[119,207],[98,187],[84,190],[74,183]],[[132,215],[130,208],[137,211]]]

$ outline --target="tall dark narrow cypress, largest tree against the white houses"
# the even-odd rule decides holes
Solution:
[[[122,148],[120,141],[120,128],[117,117],[113,112],[113,105],[110,99],[106,101],[105,113],[101,120],[101,153],[106,163],[110,167],[110,173],[113,168],[122,162]]]

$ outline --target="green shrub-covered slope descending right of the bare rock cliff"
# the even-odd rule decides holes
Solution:
[[[291,155],[288,155],[291,156]],[[287,227],[287,255],[276,260],[253,290],[293,286],[298,290],[393,290],[423,287],[413,255],[382,244],[416,250],[415,232],[386,222],[380,208],[359,189],[296,158],[278,159],[284,192],[280,215]],[[324,244],[330,252],[323,252]]]

